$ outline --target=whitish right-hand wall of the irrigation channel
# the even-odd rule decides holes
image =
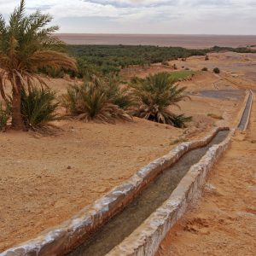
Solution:
[[[241,118],[246,108],[249,111],[241,130],[245,131],[247,129],[252,105],[253,91],[247,90],[243,108],[241,108],[238,115],[237,125],[230,131],[229,136],[222,143],[209,148],[201,160],[190,167],[189,172],[183,177],[177,188],[173,190],[169,199],[106,256],[154,256],[168,231],[183,216],[188,207],[201,197],[208,173],[229,147],[231,138],[234,136],[237,127],[241,125]]]

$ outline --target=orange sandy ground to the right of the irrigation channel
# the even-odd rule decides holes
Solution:
[[[255,255],[255,131],[254,102],[249,129],[236,133],[212,170],[199,205],[170,230],[157,256]]]

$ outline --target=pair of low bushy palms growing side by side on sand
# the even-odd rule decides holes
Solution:
[[[93,76],[84,84],[71,85],[61,96],[67,113],[84,121],[115,123],[116,119],[127,121],[132,116],[154,122],[184,127],[190,117],[173,113],[172,107],[189,98],[185,87],[175,84],[171,73],[156,73],[146,79],[131,79],[121,84],[118,77],[99,79]]]

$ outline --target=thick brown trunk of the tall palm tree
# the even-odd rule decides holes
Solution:
[[[19,77],[15,78],[15,84],[13,84],[12,127],[18,131],[25,129],[21,115],[21,81]]]

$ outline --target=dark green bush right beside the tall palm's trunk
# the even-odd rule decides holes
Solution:
[[[59,119],[55,113],[58,105],[55,92],[51,90],[32,88],[29,92],[21,91],[21,114],[28,129],[44,128],[50,121]]]

